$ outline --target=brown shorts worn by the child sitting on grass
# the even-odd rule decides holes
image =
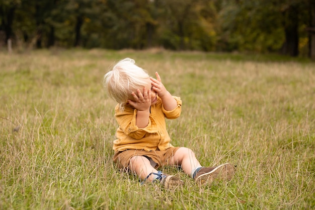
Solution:
[[[167,150],[155,150],[155,151],[144,151],[144,150],[125,150],[122,152],[115,152],[113,162],[117,164],[120,169],[129,169],[130,159],[134,156],[146,157],[153,168],[157,169],[163,166],[167,166],[170,158],[176,153],[179,147],[169,148]]]

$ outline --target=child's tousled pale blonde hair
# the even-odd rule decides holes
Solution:
[[[147,86],[148,78],[147,72],[133,59],[125,58],[104,76],[104,86],[109,96],[119,103],[120,111],[124,111],[128,99],[133,100],[131,93]]]

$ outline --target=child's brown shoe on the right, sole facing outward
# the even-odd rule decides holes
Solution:
[[[211,184],[213,181],[229,181],[235,174],[235,166],[225,163],[216,167],[203,167],[196,176],[197,184]]]

